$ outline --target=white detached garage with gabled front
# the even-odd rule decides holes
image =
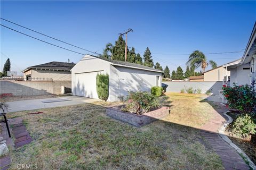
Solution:
[[[161,86],[162,73],[140,64],[85,55],[71,69],[72,94],[98,99],[96,76],[108,74],[108,101],[118,101],[127,96],[128,91],[150,91],[153,86]]]

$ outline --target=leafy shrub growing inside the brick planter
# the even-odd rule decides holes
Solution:
[[[150,111],[150,109],[159,107],[158,98],[149,94],[147,91],[129,92],[126,102],[122,111],[139,115]]]

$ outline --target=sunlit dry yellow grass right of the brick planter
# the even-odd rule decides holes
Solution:
[[[161,103],[170,106],[171,113],[164,121],[199,128],[212,118],[214,107],[218,107],[210,101],[206,102],[204,97],[199,94],[165,93],[160,97]]]

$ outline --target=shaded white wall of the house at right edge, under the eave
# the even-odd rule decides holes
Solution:
[[[237,85],[250,84],[251,70],[243,70],[245,67],[250,67],[250,63],[230,69],[230,86],[232,86],[233,83],[236,83]]]

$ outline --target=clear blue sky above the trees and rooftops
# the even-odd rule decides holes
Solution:
[[[115,43],[118,33],[132,28],[128,46],[141,56],[149,47],[154,62],[172,71],[179,65],[186,69],[189,55],[181,54],[196,49],[204,53],[244,49],[256,21],[256,1],[1,1],[1,17],[98,53],[107,43]],[[86,53],[6,21],[1,24]],[[12,71],[18,72],[32,65],[68,58],[76,63],[82,58],[3,27],[1,52],[10,57]],[[242,55],[206,56],[221,65]],[[1,54],[1,71],[5,61]]]

